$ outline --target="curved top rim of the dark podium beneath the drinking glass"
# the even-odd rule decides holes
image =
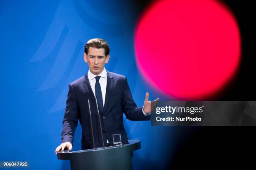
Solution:
[[[131,152],[134,150],[138,150],[141,148],[140,140],[128,140],[129,144],[121,145],[121,146],[109,146],[104,148],[95,148],[95,149],[87,149],[87,150],[77,150],[77,151],[59,151],[57,152],[57,157],[59,160],[71,160],[76,158],[77,156],[90,157],[93,155],[102,155],[102,154],[115,154],[118,152]]]

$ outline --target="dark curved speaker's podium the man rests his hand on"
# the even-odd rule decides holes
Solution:
[[[103,148],[57,152],[59,160],[70,160],[72,170],[132,170],[131,152],[141,148],[140,140]]]

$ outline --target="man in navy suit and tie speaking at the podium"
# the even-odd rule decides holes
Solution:
[[[143,107],[137,107],[127,82],[123,75],[105,70],[110,55],[108,43],[99,38],[91,39],[84,46],[84,61],[89,70],[86,75],[69,84],[67,105],[63,119],[61,145],[56,152],[64,148],[72,149],[74,132],[78,120],[82,126],[82,150],[93,148],[92,129],[95,147],[102,147],[100,121],[102,123],[103,143],[113,145],[112,134],[120,133],[122,144],[128,143],[127,134],[123,126],[123,113],[133,121],[150,120],[151,101],[146,93]],[[100,120],[97,112],[100,112]],[[90,109],[92,126],[90,124]],[[157,98],[154,101],[158,101]],[[157,102],[154,102],[154,104]]]

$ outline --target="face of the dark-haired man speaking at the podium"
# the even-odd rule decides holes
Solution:
[[[84,53],[84,61],[87,62],[90,71],[94,75],[100,75],[105,63],[108,63],[109,55],[105,56],[104,48],[89,47],[88,54]]]

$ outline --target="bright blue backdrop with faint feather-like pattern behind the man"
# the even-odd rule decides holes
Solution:
[[[171,100],[138,72],[133,41],[140,12],[136,3],[119,0],[0,1],[0,161],[29,161],[31,169],[70,168],[54,150],[61,143],[68,84],[87,72],[84,44],[91,38],[109,43],[106,69],[127,76],[138,106],[146,92],[150,100]],[[126,119],[124,125],[128,138],[141,140],[135,170],[165,168],[176,139],[184,138],[178,127]],[[81,149],[80,141],[78,125],[73,150]]]

